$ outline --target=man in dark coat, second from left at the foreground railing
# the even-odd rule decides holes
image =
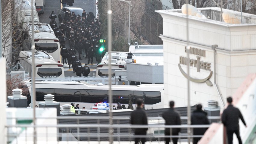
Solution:
[[[181,121],[180,121],[180,114],[175,111],[174,109],[174,102],[170,101],[170,109],[168,109],[167,111],[165,111],[162,114],[162,117],[165,120],[165,125],[180,125]],[[180,132],[180,128],[173,128],[172,129],[172,135],[173,136],[177,136],[179,135]],[[164,134],[166,136],[170,136],[170,128],[165,128]],[[178,143],[178,138],[172,138],[173,140],[173,144],[177,144]],[[170,142],[170,138],[165,138],[165,144],[169,144]]]

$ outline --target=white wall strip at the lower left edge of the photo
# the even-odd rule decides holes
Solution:
[[[0,86],[0,91],[1,93],[1,97],[0,97],[0,143],[6,143],[6,135],[5,133],[7,132],[7,130],[5,130],[5,125],[6,125],[6,107],[5,107],[5,103],[6,103],[6,69],[5,67],[5,58],[0,58],[0,67],[2,67],[0,69],[0,79],[1,79],[1,86]]]

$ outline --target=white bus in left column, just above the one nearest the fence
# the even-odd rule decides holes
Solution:
[[[27,36],[25,36],[27,40],[24,41],[23,50],[31,50],[32,24],[27,24],[25,28],[28,33],[26,33]],[[34,25],[34,42],[36,50],[45,51],[49,53],[56,62],[60,62],[60,42],[49,24],[39,23]]]

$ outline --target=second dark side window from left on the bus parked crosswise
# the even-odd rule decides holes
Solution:
[[[56,102],[81,102],[80,89],[55,89],[53,95]]]

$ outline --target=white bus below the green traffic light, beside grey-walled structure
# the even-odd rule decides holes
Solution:
[[[101,63],[97,65],[96,77],[108,76],[109,59],[108,52],[106,52]],[[115,75],[115,70],[126,70],[126,62],[133,62],[134,60],[135,55],[133,55],[133,53],[111,52],[111,75]]]

